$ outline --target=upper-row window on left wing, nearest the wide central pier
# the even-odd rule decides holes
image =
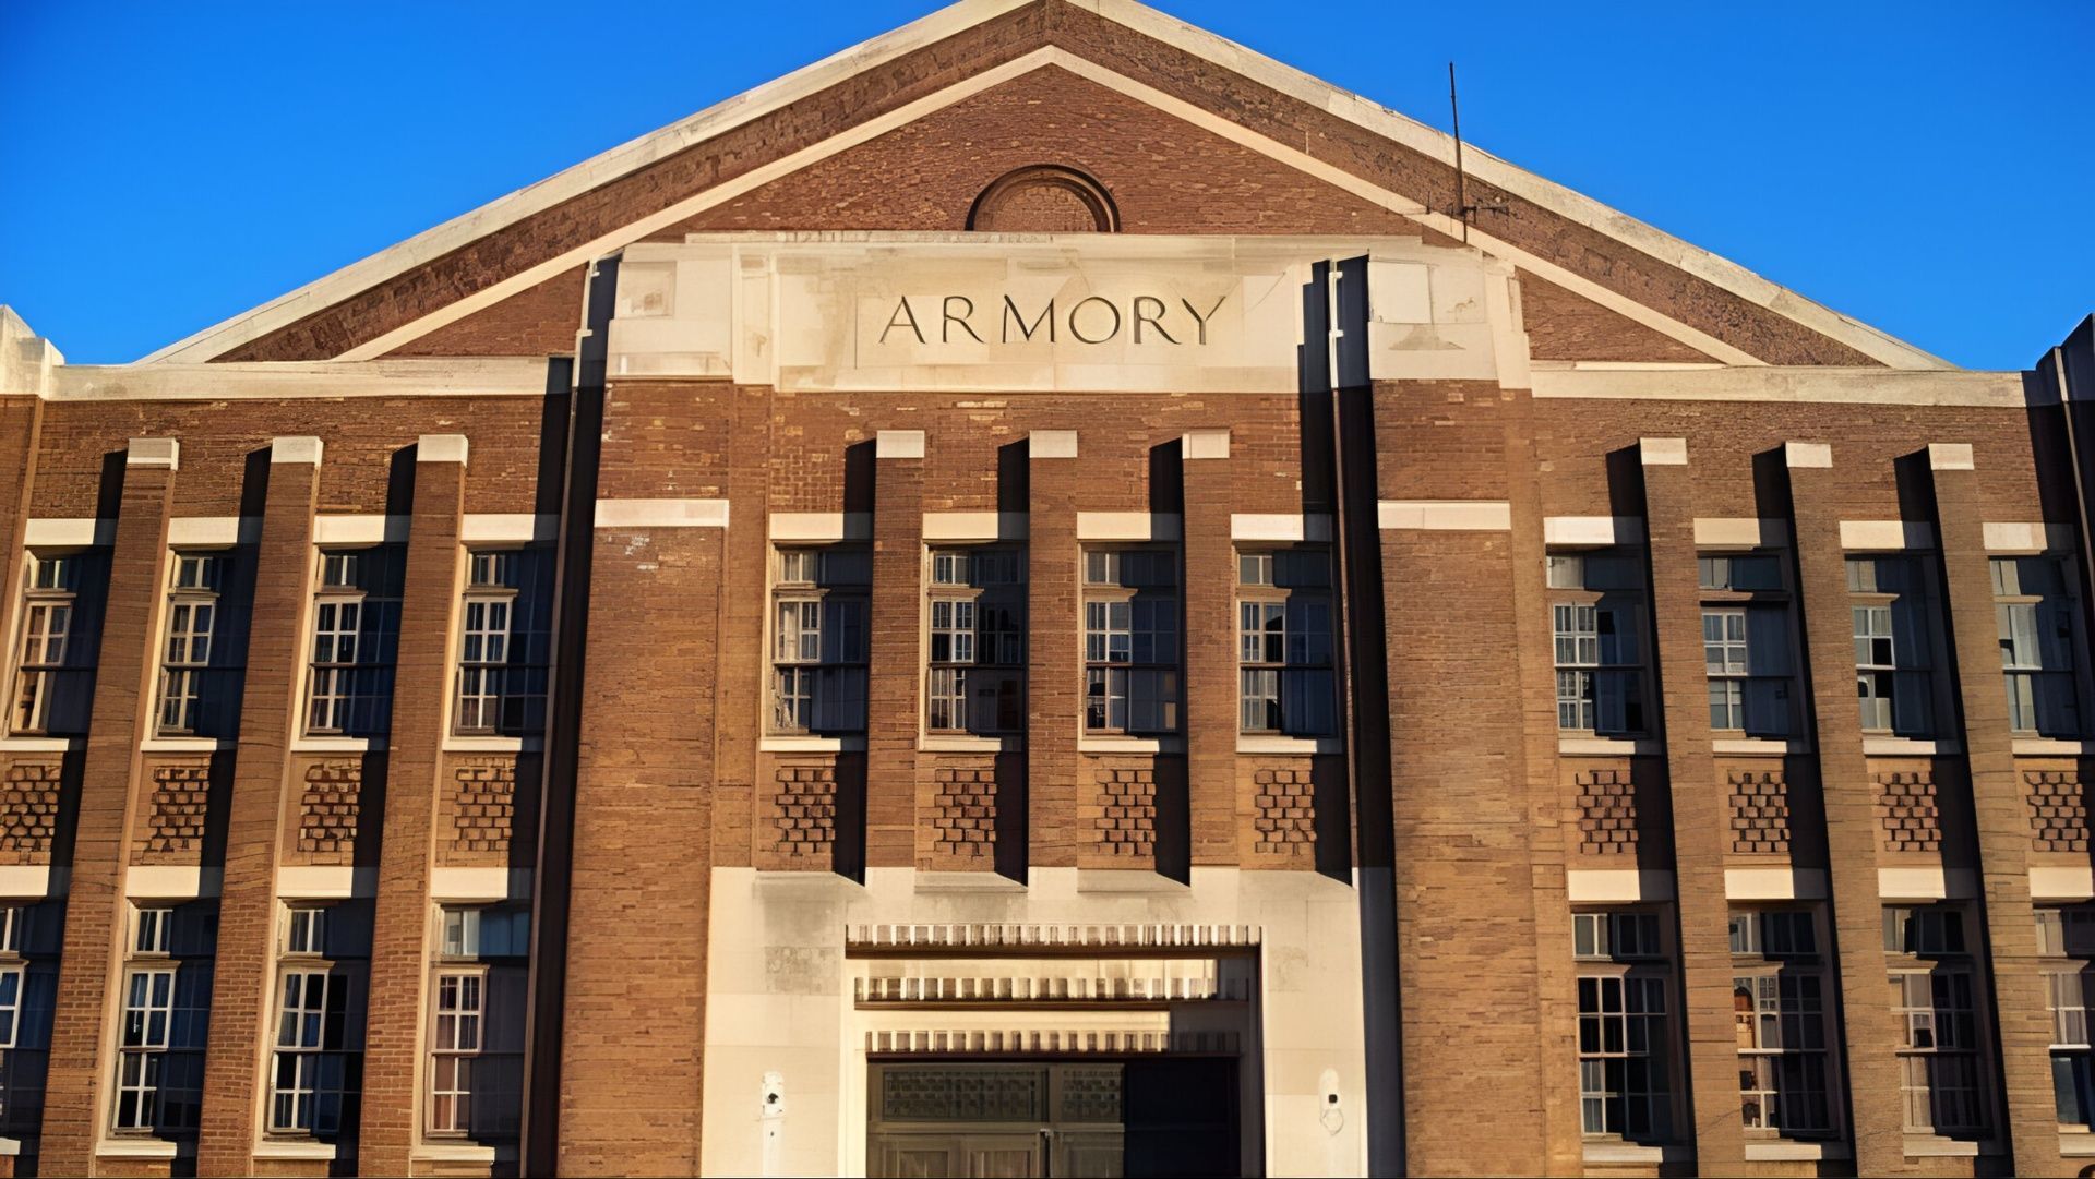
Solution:
[[[553,641],[553,561],[547,549],[467,555],[459,611],[459,733],[530,735],[545,729]]]

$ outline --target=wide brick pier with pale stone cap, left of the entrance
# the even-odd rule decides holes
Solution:
[[[698,1175],[714,716],[742,697],[710,676],[729,517],[721,500],[595,509],[559,1175]]]

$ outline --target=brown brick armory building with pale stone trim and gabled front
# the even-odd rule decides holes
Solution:
[[[0,1150],[2095,1160],[2095,329],[1464,172],[970,0],[134,364],[4,316]]]

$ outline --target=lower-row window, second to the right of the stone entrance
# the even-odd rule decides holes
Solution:
[[[1818,921],[1810,909],[1735,909],[1730,957],[1739,1114],[1747,1133],[1831,1133]]]

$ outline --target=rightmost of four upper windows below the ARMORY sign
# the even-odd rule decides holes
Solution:
[[[1238,727],[1244,733],[1337,733],[1330,635],[1326,551],[1236,555]]]

